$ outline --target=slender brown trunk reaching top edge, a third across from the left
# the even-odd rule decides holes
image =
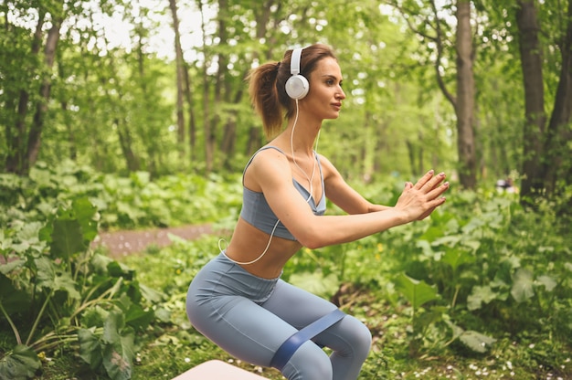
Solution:
[[[185,63],[183,48],[181,47],[181,33],[179,30],[179,18],[176,14],[176,0],[169,0],[169,7],[173,16],[173,30],[175,31],[175,62],[176,62],[176,126],[177,140],[179,142],[180,155],[185,154],[185,108],[184,108],[184,84]]]

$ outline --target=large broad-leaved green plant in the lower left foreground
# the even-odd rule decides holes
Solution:
[[[30,378],[41,367],[38,354],[79,344],[94,372],[131,378],[134,332],[154,320],[151,306],[160,298],[132,269],[90,249],[97,216],[79,197],[46,224],[14,221],[0,235],[0,311],[15,339],[0,374]]]

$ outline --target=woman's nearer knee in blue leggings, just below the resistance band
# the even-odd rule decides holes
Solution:
[[[327,354],[312,341],[303,343],[282,369],[288,380],[331,380],[332,362]]]

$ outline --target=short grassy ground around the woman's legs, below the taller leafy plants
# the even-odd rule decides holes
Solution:
[[[216,238],[207,237],[124,259],[143,283],[168,295],[166,305],[172,311],[172,324],[156,329],[145,340],[137,354],[133,379],[171,378],[209,359],[227,361],[269,379],[282,378],[273,369],[234,360],[187,322],[186,287],[196,270],[216,254],[215,248]],[[342,309],[363,320],[374,335],[361,379],[572,378],[570,347],[549,339],[539,341],[538,336],[527,339],[526,335],[494,332],[498,340],[493,348],[475,354],[460,343],[443,347],[439,336],[431,345],[428,332],[423,347],[415,347],[407,302],[388,301],[387,291],[374,287],[346,285],[338,294]]]

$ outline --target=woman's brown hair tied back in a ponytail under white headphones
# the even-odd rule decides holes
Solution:
[[[295,111],[295,102],[285,90],[286,80],[291,77],[291,54],[292,50],[287,50],[280,62],[265,63],[252,69],[247,77],[250,100],[262,118],[264,133],[269,140],[281,132],[284,113],[286,119],[290,119]],[[318,61],[326,57],[336,59],[330,47],[322,44],[304,47],[300,64],[301,74],[310,79]]]

